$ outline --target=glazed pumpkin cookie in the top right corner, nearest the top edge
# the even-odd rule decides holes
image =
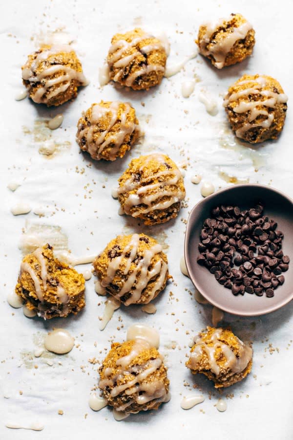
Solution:
[[[240,14],[200,26],[196,43],[199,52],[221,69],[239,63],[252,53],[255,43],[251,24]]]

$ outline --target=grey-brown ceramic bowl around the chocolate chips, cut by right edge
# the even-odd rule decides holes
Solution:
[[[278,286],[272,298],[249,293],[234,296],[230,289],[216,281],[206,267],[197,264],[200,231],[215,206],[227,204],[247,209],[259,201],[265,205],[264,214],[275,220],[277,228],[284,233],[282,250],[284,255],[289,255],[292,263],[283,274],[285,283]],[[234,185],[220,190],[201,200],[192,209],[187,223],[184,253],[192,283],[214,306],[241,316],[262,315],[285,306],[293,299],[293,200],[274,188],[257,184]]]

